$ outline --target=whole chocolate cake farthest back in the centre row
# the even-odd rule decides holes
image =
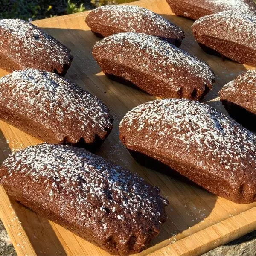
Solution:
[[[158,36],[177,47],[185,37],[178,26],[139,6],[100,6],[88,14],[85,22],[100,37],[121,32],[138,32]]]

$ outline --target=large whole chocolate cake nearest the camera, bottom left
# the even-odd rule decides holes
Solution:
[[[8,157],[0,184],[38,214],[114,255],[140,252],[160,232],[168,201],[142,178],[67,145],[30,146]]]

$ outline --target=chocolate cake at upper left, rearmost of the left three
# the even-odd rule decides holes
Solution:
[[[70,49],[37,26],[19,19],[0,20],[0,67],[12,72],[35,68],[67,73]]]

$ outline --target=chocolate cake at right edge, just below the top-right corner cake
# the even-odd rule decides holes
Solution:
[[[256,16],[219,12],[196,20],[192,31],[206,52],[256,66]]]

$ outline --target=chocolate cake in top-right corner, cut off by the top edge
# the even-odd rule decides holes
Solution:
[[[166,0],[176,15],[192,20],[217,12],[233,10],[256,15],[253,0]]]

